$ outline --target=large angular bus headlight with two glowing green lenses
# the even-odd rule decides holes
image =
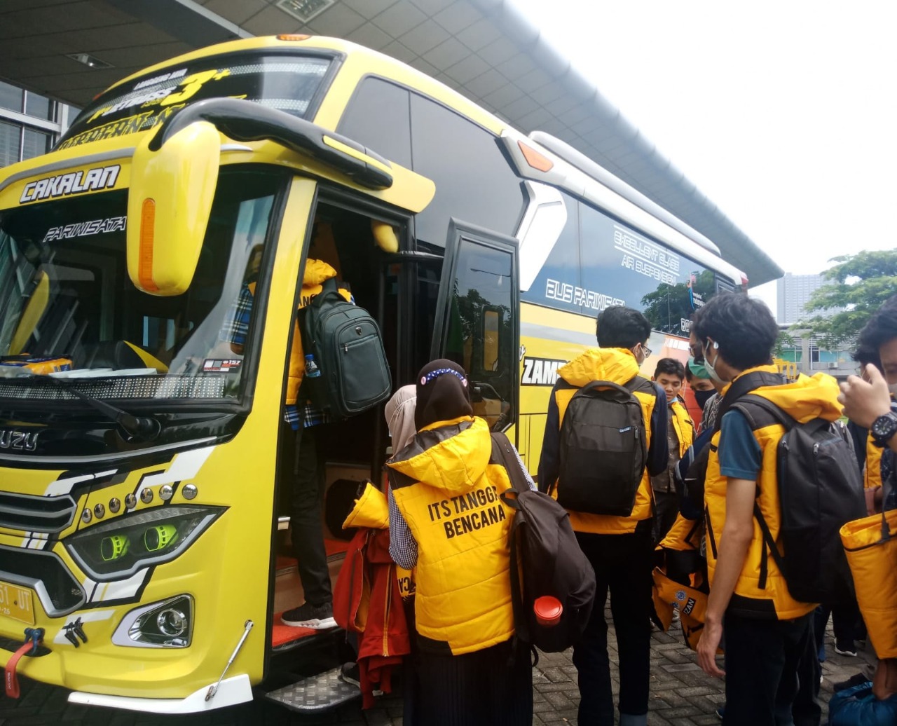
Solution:
[[[119,580],[142,567],[173,560],[222,512],[224,507],[156,507],[94,525],[63,544],[93,580]]]

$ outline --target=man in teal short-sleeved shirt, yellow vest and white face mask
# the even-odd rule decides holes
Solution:
[[[754,430],[730,406],[750,392],[797,421],[836,421],[838,386],[823,373],[785,381],[771,364],[779,334],[775,319],[765,304],[743,293],[712,298],[695,313],[692,332],[710,377],[726,385],[704,487],[710,597],[698,661],[711,676],[726,676],[724,724],[787,723],[797,698],[798,669],[806,653],[815,650],[816,603],[791,597],[754,520],[757,507],[771,537],[778,538],[775,462],[784,427]],[[724,623],[725,672],[716,661]]]

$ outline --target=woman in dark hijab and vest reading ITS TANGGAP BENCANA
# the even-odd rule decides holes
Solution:
[[[513,640],[512,511],[499,497],[508,473],[463,368],[428,363],[415,389],[417,433],[387,467],[389,552],[415,570],[421,722],[530,724],[529,652]]]

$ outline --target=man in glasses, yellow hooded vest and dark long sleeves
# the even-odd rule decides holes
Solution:
[[[628,517],[570,512],[579,547],[595,570],[597,595],[585,633],[573,646],[573,664],[579,671],[579,723],[613,723],[607,656],[605,600],[611,594],[620,669],[620,724],[648,722],[649,618],[652,608],[653,503],[650,477],[666,472],[666,394],[656,384],[637,379],[639,367],[650,355],[651,325],[639,311],[611,307],[597,316],[598,347],[590,348],[558,369],[558,380],[548,402],[548,417],[539,459],[538,482],[544,491],[555,490],[561,470],[561,427],[570,400],[593,380],[619,385],[634,383],[648,437],[648,464],[642,474],[635,504]]]

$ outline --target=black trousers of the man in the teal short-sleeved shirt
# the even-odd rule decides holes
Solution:
[[[796,620],[726,614],[724,726],[790,726],[801,661],[814,643],[812,621],[813,613]]]

